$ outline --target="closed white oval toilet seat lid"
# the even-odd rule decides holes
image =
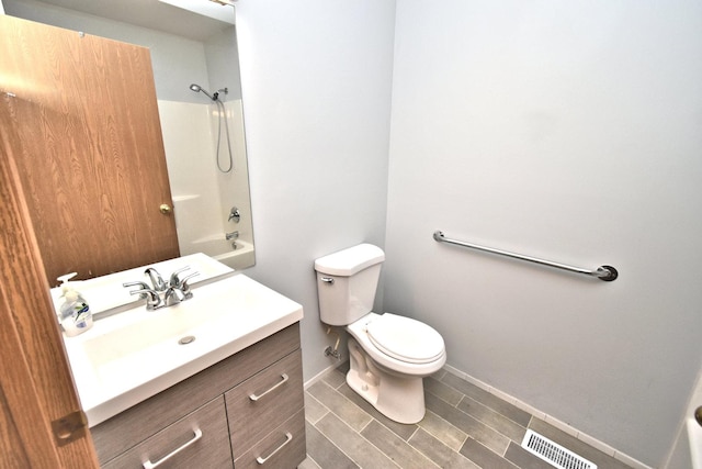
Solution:
[[[433,327],[385,313],[366,324],[366,334],[378,350],[408,364],[429,364],[444,355],[441,334]]]

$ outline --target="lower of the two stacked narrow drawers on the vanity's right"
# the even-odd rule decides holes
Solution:
[[[306,457],[305,411],[301,410],[269,433],[236,461],[244,468],[296,468]]]

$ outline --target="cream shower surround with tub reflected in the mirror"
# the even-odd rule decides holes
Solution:
[[[234,269],[252,265],[246,145],[239,131],[244,129],[241,100],[224,102],[233,152],[230,172],[219,171],[216,164],[217,105],[159,100],[158,107],[181,255],[204,253]],[[219,145],[218,156],[225,161],[224,125],[222,132],[225,144]],[[233,206],[239,208],[239,223],[228,221]],[[226,241],[226,233],[233,231],[239,232],[238,239]]]

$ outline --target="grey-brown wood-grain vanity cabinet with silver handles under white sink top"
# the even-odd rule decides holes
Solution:
[[[295,468],[305,459],[299,324],[91,428],[106,469]]]

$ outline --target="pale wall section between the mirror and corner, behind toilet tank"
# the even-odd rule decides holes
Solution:
[[[332,364],[314,259],[383,245],[395,4],[237,3],[254,268],[304,306],[305,379]]]

